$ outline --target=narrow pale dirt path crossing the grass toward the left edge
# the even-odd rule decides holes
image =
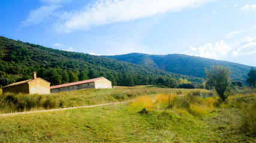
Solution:
[[[104,105],[114,105],[114,104],[122,104],[129,101],[123,101],[123,102],[113,102],[113,103],[106,103],[106,104],[97,104],[97,105],[86,105],[86,106],[79,106],[79,107],[68,107],[68,108],[55,108],[50,110],[37,110],[37,111],[25,111],[25,112],[17,112],[17,113],[6,113],[6,114],[0,114],[0,117],[3,116],[13,116],[18,114],[28,114],[28,113],[38,113],[38,112],[48,112],[48,111],[58,111],[58,110],[69,110],[74,108],[90,108],[90,107],[98,107],[98,106],[104,106]]]

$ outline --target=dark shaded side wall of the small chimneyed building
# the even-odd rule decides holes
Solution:
[[[2,88],[2,94],[6,93],[14,93],[14,94],[29,94],[29,85],[28,83],[22,84],[22,85],[14,85],[14,86],[8,86],[5,88]]]

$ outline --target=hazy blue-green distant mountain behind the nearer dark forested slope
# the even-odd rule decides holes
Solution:
[[[245,83],[247,73],[251,69],[251,66],[246,66],[243,64],[212,60],[209,58],[201,58],[183,54],[149,55],[141,53],[131,53],[107,57],[116,60],[127,61],[133,64],[139,64],[142,66],[156,67],[157,69],[170,71],[172,73],[201,78],[205,77],[204,68],[209,69],[210,66],[222,65],[224,67],[230,67],[231,79],[241,80],[243,83]]]

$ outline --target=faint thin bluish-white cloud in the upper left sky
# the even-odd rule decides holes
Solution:
[[[46,21],[56,10],[58,10],[58,8],[61,7],[62,5],[45,5],[37,10],[32,10],[29,13],[29,17],[25,21],[22,21],[21,27],[36,25]]]

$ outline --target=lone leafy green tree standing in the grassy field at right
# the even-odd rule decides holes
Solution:
[[[219,98],[225,101],[230,94],[230,69],[222,66],[212,66],[208,71],[205,70],[207,85],[210,88],[215,88]]]

